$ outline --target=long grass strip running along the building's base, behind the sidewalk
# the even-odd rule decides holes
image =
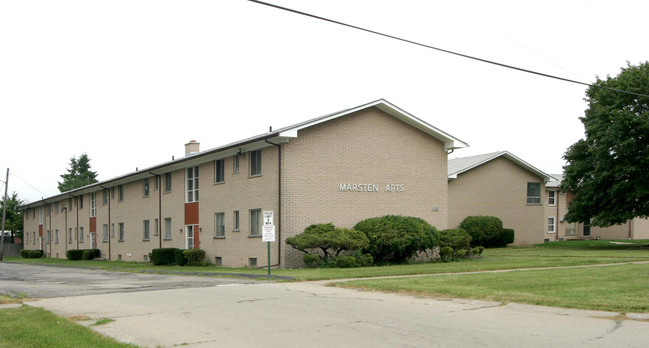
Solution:
[[[461,262],[415,263],[408,265],[346,269],[277,269],[272,270],[272,274],[289,276],[297,280],[327,280],[390,275],[455,273],[512,268],[557,267],[649,261],[649,240],[621,240],[618,242],[631,244],[613,244],[611,241],[605,240],[551,242],[528,247],[487,249],[481,258],[467,259],[462,260]],[[153,266],[150,263],[142,262],[69,261],[65,259],[51,258],[23,259],[20,257],[9,257],[6,259],[8,261],[25,263],[73,265],[104,270],[123,270],[132,272],[213,272],[215,275],[217,273],[244,273],[258,275],[264,275],[267,273],[267,270],[263,268]]]

